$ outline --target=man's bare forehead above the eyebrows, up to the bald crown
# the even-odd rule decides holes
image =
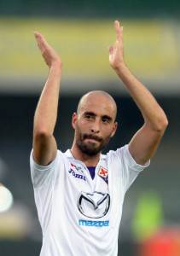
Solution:
[[[115,115],[115,111],[113,101],[101,94],[84,96],[79,106],[79,113],[93,112],[97,115],[109,115],[112,118]]]

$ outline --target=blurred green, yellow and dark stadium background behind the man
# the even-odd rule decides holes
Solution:
[[[48,69],[33,31],[43,32],[63,61],[55,128],[62,151],[71,146],[71,115],[85,91],[107,90],[119,105],[119,130],[108,148],[128,143],[142,124],[136,105],[108,65],[115,19],[124,26],[125,61],[154,93],[170,123],[151,166],[126,195],[119,253],[148,256],[151,251],[150,256],[161,256],[153,251],[153,239],[160,236],[166,239],[159,239],[162,247],[167,250],[171,241],[175,248],[167,256],[180,255],[179,10],[177,0],[0,2],[0,182],[14,196],[13,207],[0,213],[1,256],[35,256],[41,246],[29,154],[33,113]],[[147,241],[150,249],[139,252]]]

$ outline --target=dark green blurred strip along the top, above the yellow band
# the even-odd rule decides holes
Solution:
[[[87,1],[87,0],[9,0],[1,1],[1,15],[49,15],[69,17],[177,17],[179,18],[180,3],[177,0],[126,0],[126,1]]]

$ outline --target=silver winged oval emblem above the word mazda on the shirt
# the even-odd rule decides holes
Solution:
[[[78,211],[88,218],[104,217],[110,207],[110,195],[94,192],[92,194],[81,192],[78,196]]]

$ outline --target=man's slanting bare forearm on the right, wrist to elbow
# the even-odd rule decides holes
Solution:
[[[167,119],[164,111],[154,99],[154,96],[136,79],[124,63],[114,70],[118,74],[119,79],[125,84],[125,87],[133,100],[136,102],[145,123],[151,125],[154,130],[161,131],[167,123]]]

